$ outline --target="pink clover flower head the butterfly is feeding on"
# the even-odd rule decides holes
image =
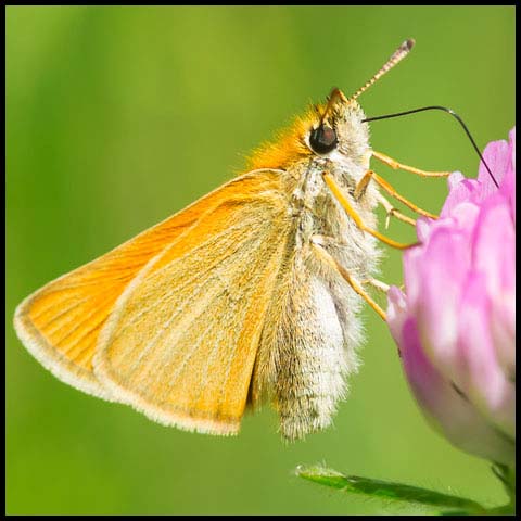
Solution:
[[[428,420],[457,447],[513,465],[516,129],[487,145],[478,179],[454,173],[440,218],[419,219],[405,294],[387,323]]]

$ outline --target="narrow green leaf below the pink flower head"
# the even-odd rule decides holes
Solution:
[[[339,488],[342,492],[359,494],[387,501],[404,501],[416,505],[428,505],[439,508],[450,508],[452,513],[484,514],[486,509],[472,499],[450,496],[440,492],[420,488],[418,486],[404,485],[390,481],[359,478],[357,475],[344,475],[335,470],[321,467],[298,467],[296,474],[305,480],[321,485]]]

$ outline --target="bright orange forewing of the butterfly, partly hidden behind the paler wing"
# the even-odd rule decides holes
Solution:
[[[237,213],[257,195],[276,193],[279,177],[269,170],[238,177],[112,252],[48,283],[16,308],[14,326],[20,339],[60,380],[86,393],[117,399],[93,373],[92,358],[100,331],[125,288],[198,223],[211,220],[216,208],[230,208],[229,201],[236,201]],[[190,237],[191,242],[182,242],[187,249],[196,246],[198,237]],[[181,253],[179,247],[176,251]]]

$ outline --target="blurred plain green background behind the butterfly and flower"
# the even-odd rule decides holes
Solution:
[[[177,212],[334,86],[363,85],[407,37],[410,56],[367,91],[368,115],[453,107],[480,148],[514,125],[513,7],[7,9],[7,509],[16,514],[339,514],[386,511],[295,478],[300,463],[506,500],[487,463],[425,424],[371,312],[365,365],[334,428],[285,445],[266,408],[240,436],[155,424],[35,361],[12,329],[43,283]],[[372,124],[405,163],[476,175],[449,116]],[[444,180],[374,165],[437,211]],[[392,223],[389,234],[414,238]],[[382,278],[401,280],[389,252]],[[393,511],[410,513],[410,508]]]

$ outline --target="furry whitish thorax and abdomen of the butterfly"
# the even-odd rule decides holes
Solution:
[[[325,182],[325,173],[332,175],[364,221],[376,225],[377,189],[369,186],[359,198],[354,195],[369,168],[368,136],[358,131],[357,139],[350,140],[352,122],[336,120],[342,124],[342,148],[334,154],[310,155],[281,174],[290,199],[284,257],[289,269],[280,271],[272,295],[251,402],[271,401],[280,430],[290,440],[330,424],[346,392],[345,377],[358,366],[361,339],[357,295],[317,257],[312,242],[319,242],[358,280],[370,277],[378,260],[373,238],[357,228]]]

